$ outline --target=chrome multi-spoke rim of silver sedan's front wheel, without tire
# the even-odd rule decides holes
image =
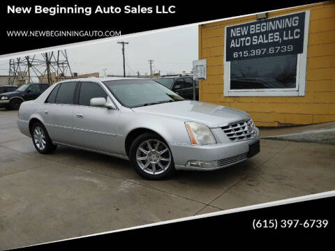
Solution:
[[[148,174],[161,174],[171,165],[171,152],[168,146],[158,139],[149,139],[136,151],[136,160],[140,168]]]

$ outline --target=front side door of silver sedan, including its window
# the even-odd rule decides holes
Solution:
[[[107,153],[119,153],[119,109],[92,107],[91,98],[110,99],[97,82],[81,82],[73,110],[73,129],[77,146]]]

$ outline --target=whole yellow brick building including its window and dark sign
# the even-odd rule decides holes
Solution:
[[[200,100],[244,110],[257,126],[335,121],[335,2],[260,17],[199,26]]]

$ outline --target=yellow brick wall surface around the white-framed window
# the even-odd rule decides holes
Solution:
[[[199,26],[199,58],[207,59],[207,80],[200,81],[200,100],[244,110],[257,126],[335,121],[335,2],[278,10],[269,17],[304,10],[311,10],[305,96],[223,96],[225,26],[255,21],[256,15],[250,15]]]

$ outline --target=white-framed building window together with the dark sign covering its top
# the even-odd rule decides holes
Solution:
[[[224,96],[304,96],[309,15],[226,26]]]

